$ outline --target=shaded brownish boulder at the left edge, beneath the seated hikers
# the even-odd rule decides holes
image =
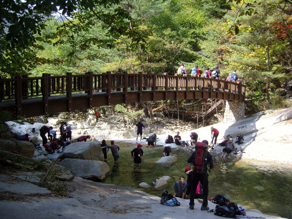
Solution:
[[[0,149],[31,158],[34,156],[34,145],[29,141],[0,140]]]

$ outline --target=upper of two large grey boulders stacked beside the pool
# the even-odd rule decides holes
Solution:
[[[61,155],[60,159],[103,160],[102,148],[98,141],[74,142],[67,145]]]

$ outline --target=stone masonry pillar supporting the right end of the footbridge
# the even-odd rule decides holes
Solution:
[[[244,102],[227,100],[225,104],[223,122],[235,122],[244,118]]]

